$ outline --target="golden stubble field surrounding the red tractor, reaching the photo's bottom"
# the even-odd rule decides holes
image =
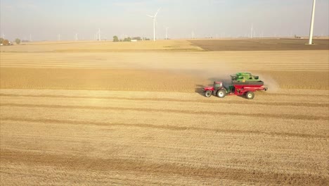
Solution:
[[[1,183],[328,184],[328,51],[89,45],[1,47]],[[269,92],[202,96],[240,70]]]

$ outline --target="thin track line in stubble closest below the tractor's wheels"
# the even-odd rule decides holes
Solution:
[[[277,94],[281,95],[281,94]],[[307,95],[317,96],[318,95]],[[128,97],[88,97],[88,96],[67,96],[67,95],[53,95],[53,94],[0,94],[0,97],[41,97],[41,98],[67,98],[67,99],[119,99],[127,101],[159,101],[159,102],[185,102],[185,103],[205,103],[205,104],[247,104],[247,105],[266,105],[266,106],[309,106],[309,107],[329,107],[329,104],[314,104],[314,103],[297,103],[297,102],[255,102],[255,101],[234,101],[234,100],[187,100],[187,99],[174,99],[174,98],[128,98]],[[328,96],[323,96],[328,97]]]

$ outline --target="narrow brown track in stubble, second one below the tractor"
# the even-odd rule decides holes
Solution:
[[[91,110],[115,110],[115,111],[146,111],[146,112],[167,112],[167,113],[185,113],[185,114],[200,114],[200,115],[228,115],[228,116],[248,116],[257,118],[288,118],[295,120],[329,120],[328,116],[305,116],[293,114],[276,114],[276,113],[238,113],[238,112],[216,112],[216,111],[186,111],[174,109],[146,109],[146,108],[123,108],[113,106],[72,106],[72,105],[56,105],[56,104],[0,104],[0,106],[18,106],[26,108],[49,108],[49,109],[91,109]]]

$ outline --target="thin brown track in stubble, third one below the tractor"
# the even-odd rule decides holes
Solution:
[[[222,132],[222,133],[236,133],[246,135],[270,135],[270,136],[283,136],[283,137],[306,137],[306,138],[328,138],[327,135],[310,135],[291,132],[261,132],[258,130],[226,130],[215,128],[197,128],[197,127],[179,127],[176,125],[152,125],[147,123],[109,123],[109,122],[97,122],[86,120],[56,120],[56,119],[32,119],[32,118],[16,118],[16,117],[4,117],[1,121],[15,121],[15,122],[32,122],[32,123],[51,123],[51,124],[70,124],[70,125],[98,125],[98,126],[123,126],[123,127],[136,127],[136,128],[155,128],[163,130],[195,130],[206,132]]]

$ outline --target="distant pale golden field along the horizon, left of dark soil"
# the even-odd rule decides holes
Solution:
[[[0,47],[1,52],[120,52],[120,51],[203,51],[186,40],[160,40],[157,42],[29,42]]]

